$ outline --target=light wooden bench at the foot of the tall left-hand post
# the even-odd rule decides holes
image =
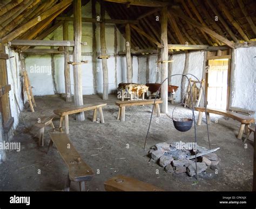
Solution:
[[[69,115],[85,112],[87,110],[93,110],[92,121],[95,122],[97,120],[97,109],[99,109],[100,122],[104,123],[104,116],[102,112],[102,107],[104,106],[106,106],[106,103],[87,104],[87,105],[82,105],[77,107],[56,109],[56,110],[53,110],[53,113],[60,116],[59,130],[62,131],[62,126],[64,122],[65,133],[69,134]]]

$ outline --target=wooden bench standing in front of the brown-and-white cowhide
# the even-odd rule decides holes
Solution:
[[[160,117],[160,108],[159,104],[163,103],[162,100],[157,99],[154,104],[154,100],[132,100],[132,101],[117,101],[116,105],[119,107],[119,112],[117,120],[125,121],[125,107],[127,106],[140,106],[140,105],[154,105],[153,114],[157,113],[157,116]]]

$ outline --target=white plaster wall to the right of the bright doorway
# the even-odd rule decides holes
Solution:
[[[232,106],[256,111],[256,47],[235,50]],[[256,114],[254,115],[256,117]]]

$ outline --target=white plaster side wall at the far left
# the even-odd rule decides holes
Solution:
[[[22,78],[19,71],[19,60],[18,54],[12,50],[5,48],[5,53],[9,54],[9,59],[6,60],[8,83],[11,85],[11,90],[9,92],[11,115],[14,117],[14,129],[19,123],[19,108],[23,109],[23,99],[22,99]],[[18,106],[15,101],[15,95],[18,101]]]

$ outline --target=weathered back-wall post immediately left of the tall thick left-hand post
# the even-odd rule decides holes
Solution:
[[[69,40],[69,23],[64,21],[63,23],[63,40]],[[69,68],[69,47],[65,46],[65,58],[64,58],[64,76],[65,76],[65,96],[66,102],[72,102],[71,95],[71,83],[70,83],[70,68]]]

